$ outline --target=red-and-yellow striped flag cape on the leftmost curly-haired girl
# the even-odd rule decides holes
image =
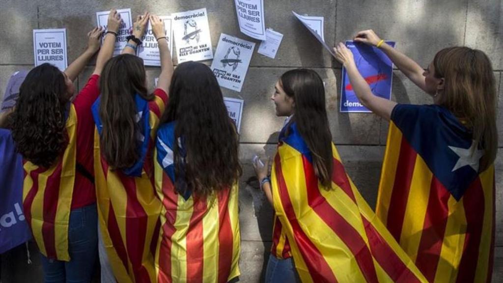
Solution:
[[[69,261],[68,221],[75,182],[77,115],[71,103],[65,129],[68,145],[49,168],[24,161],[23,210],[40,252]]]

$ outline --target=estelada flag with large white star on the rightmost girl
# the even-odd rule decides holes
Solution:
[[[377,215],[431,282],[489,282],[494,250],[494,166],[447,109],[392,111]]]

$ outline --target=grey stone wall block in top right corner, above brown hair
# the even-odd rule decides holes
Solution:
[[[503,2],[469,1],[467,11],[465,44],[486,52],[494,69],[503,69]]]

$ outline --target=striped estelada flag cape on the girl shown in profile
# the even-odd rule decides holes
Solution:
[[[323,187],[295,123],[280,135],[272,169],[274,209],[303,282],[423,282],[421,272],[360,195],[332,144]],[[284,132],[284,131],[283,131]]]

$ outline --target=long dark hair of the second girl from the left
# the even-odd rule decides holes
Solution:
[[[131,54],[108,60],[100,77],[100,91],[101,152],[111,168],[128,168],[139,159],[134,96],[154,98],[147,93],[143,60]]]

